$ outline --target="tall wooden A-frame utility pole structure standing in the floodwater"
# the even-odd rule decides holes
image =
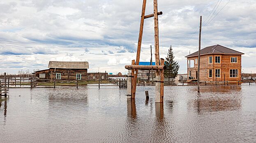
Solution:
[[[132,60],[131,66],[126,66],[127,69],[131,69],[131,98],[135,98],[136,94],[136,84],[137,84],[137,75],[138,75],[138,69],[141,68],[146,68],[146,69],[154,69],[156,70],[156,76],[161,76],[160,81],[160,97],[159,100],[156,99],[156,102],[163,102],[164,98],[164,59],[159,59],[159,37],[158,37],[158,15],[161,15],[162,12],[157,11],[157,0],[154,1],[154,13],[149,14],[145,16],[145,9],[146,9],[146,2],[147,0],[143,0],[142,4],[142,11],[141,11],[141,24],[140,24],[140,30],[139,30],[139,36],[138,36],[138,47],[137,47],[137,54],[136,54],[136,63],[134,60]],[[138,67],[139,62],[140,62],[140,55],[141,55],[141,42],[142,42],[142,35],[143,35],[143,26],[144,26],[144,20],[146,18],[151,18],[154,17],[154,30],[155,30],[155,61],[156,65],[152,66],[150,65],[149,67],[147,66],[142,66]],[[159,65],[160,64],[160,65]]]

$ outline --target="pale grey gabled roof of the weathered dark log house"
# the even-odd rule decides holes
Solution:
[[[58,69],[89,69],[89,63],[88,62],[49,61],[48,68],[58,68]]]

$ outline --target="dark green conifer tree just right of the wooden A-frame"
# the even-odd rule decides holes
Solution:
[[[166,61],[164,65],[167,67],[167,69],[164,70],[164,76],[168,78],[168,81],[170,81],[170,78],[175,78],[178,75],[178,70],[180,68],[180,65],[178,64],[177,61],[174,61],[173,56],[173,48],[170,47]]]

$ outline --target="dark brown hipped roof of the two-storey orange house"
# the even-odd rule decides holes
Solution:
[[[205,54],[238,54],[238,55],[243,55],[244,53],[241,53],[239,51],[235,51],[233,49],[221,46],[221,45],[213,45],[209,47],[205,47],[201,49],[200,55],[205,55]],[[193,57],[193,56],[198,56],[198,51],[189,54],[185,56],[185,58],[188,57]]]

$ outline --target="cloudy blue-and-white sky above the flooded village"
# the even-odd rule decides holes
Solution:
[[[89,72],[125,73],[136,58],[143,0],[0,0],[0,72],[46,69],[50,60],[88,61]],[[146,15],[153,13],[148,0]],[[179,73],[185,56],[223,45],[245,53],[243,72],[256,73],[255,0],[158,0],[160,57],[170,45]],[[141,61],[154,59],[154,20],[145,20]]]

